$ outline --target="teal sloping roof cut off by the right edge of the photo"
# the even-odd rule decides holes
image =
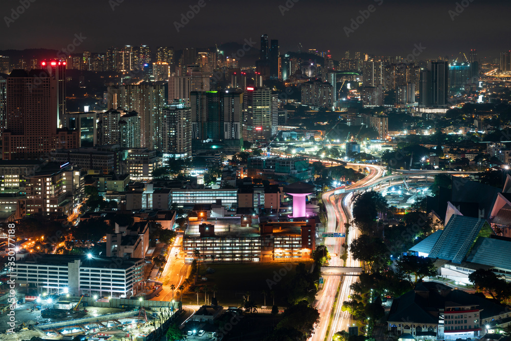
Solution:
[[[467,257],[467,262],[511,270],[511,241],[479,238]]]

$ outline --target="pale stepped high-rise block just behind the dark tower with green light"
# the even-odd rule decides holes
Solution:
[[[190,65],[186,76],[169,77],[169,102],[182,100],[190,106],[190,93],[192,91],[209,91],[210,76],[200,71],[197,65]]]

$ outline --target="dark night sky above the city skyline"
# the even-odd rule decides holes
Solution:
[[[75,34],[86,37],[75,52],[104,52],[124,44],[148,44],[154,52],[157,46],[177,50],[244,39],[255,41],[254,48],[259,49],[263,33],[278,39],[281,53],[297,51],[301,43],[304,51],[331,50],[334,59],[342,58],[346,50],[352,57],[356,51],[406,57],[414,44],[425,47],[419,59],[457,56],[460,51],[468,56],[470,49],[477,49],[479,58],[495,58],[511,48],[509,0],[458,1],[458,11],[461,3],[468,6],[456,16],[457,2],[451,0],[288,0],[294,6],[284,15],[279,5],[285,8],[286,0],[201,1],[205,6],[177,32],[174,21],[198,0],[35,0],[14,22],[8,20],[9,27],[6,16],[11,17],[20,1],[2,0],[0,50],[60,50],[73,42]],[[344,27],[369,5],[374,11],[347,37]]]

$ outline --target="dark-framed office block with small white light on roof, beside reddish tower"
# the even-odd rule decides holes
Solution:
[[[78,147],[93,147],[97,144],[98,126],[95,111],[64,113],[62,123],[64,128],[78,131],[80,135]]]

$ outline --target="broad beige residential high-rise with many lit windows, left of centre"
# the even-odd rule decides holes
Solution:
[[[164,82],[142,82],[108,87],[108,107],[136,111],[141,119],[141,145],[155,149],[161,144],[161,110],[165,107]]]

